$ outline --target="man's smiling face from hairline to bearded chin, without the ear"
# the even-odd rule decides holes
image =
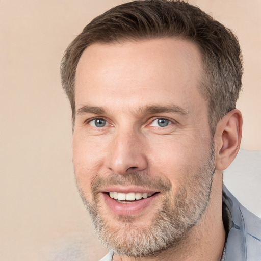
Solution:
[[[178,39],[93,44],[76,70],[73,165],[102,242],[161,251],[198,224],[214,148],[197,47]]]

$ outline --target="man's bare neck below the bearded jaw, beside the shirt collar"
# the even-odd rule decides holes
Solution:
[[[208,207],[198,225],[178,245],[150,257],[114,255],[113,261],[220,261],[225,244],[222,221],[222,172],[216,171]]]

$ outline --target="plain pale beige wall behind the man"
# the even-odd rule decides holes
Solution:
[[[0,261],[88,261],[106,253],[74,186],[70,108],[59,64],[92,18],[124,2],[0,1]],[[244,116],[242,147],[260,150],[261,1],[189,2],[238,35],[245,67],[238,102]],[[252,183],[246,198],[248,191],[253,198],[260,195],[255,191],[261,180]],[[253,211],[261,215],[260,208]]]

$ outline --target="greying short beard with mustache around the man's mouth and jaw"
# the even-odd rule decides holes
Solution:
[[[112,175],[108,179],[97,176],[92,180],[93,200],[88,201],[80,186],[80,196],[92,218],[100,242],[114,253],[123,256],[148,257],[169,248],[178,248],[186,239],[192,227],[197,225],[210,200],[215,173],[214,145],[205,163],[191,170],[189,179],[184,180],[175,193],[169,180],[152,180],[143,173],[129,173],[126,176]],[[77,183],[77,182],[76,182]],[[100,209],[97,188],[100,185],[144,185],[163,192],[164,200],[152,220],[144,220],[144,227],[135,224],[135,216],[118,216],[114,226],[109,225]],[[152,213],[153,215],[153,213]]]

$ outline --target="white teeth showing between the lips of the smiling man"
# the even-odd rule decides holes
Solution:
[[[110,196],[110,198],[115,199],[115,201],[119,203],[131,203],[131,202],[136,202],[139,200],[143,200],[146,198],[149,198],[155,194],[155,193],[135,193],[135,192],[130,192],[130,193],[121,193],[121,192],[108,192],[107,194]]]

